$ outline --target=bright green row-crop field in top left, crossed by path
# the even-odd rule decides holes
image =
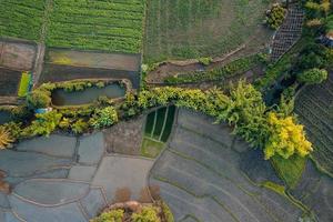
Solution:
[[[145,0],[0,0],[0,37],[48,47],[139,53]]]

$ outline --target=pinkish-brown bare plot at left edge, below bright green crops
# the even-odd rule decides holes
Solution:
[[[33,44],[0,40],[0,67],[13,70],[31,70],[36,53]]]

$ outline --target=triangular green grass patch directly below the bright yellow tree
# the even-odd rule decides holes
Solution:
[[[306,158],[292,155],[289,159],[283,159],[282,157],[274,155],[271,161],[279,176],[285,182],[287,188],[294,189],[304,171]]]

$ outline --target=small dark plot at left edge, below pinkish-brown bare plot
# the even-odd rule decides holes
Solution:
[[[16,97],[21,79],[20,71],[0,68],[0,97]]]

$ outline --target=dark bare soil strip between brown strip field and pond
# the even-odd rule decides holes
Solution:
[[[133,71],[94,69],[60,64],[44,64],[39,84],[44,82],[70,81],[74,79],[129,79],[134,89],[139,88],[140,74]]]

